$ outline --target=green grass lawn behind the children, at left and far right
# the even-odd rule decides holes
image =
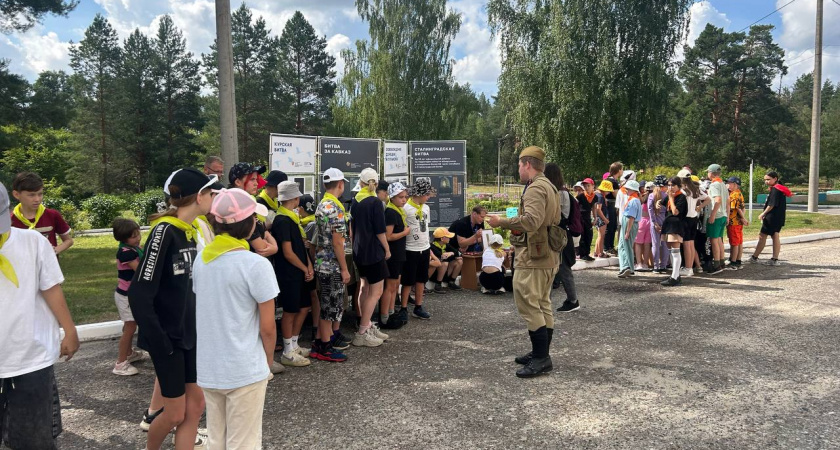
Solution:
[[[755,214],[758,219],[758,212]],[[745,240],[758,237],[760,222],[744,230]],[[788,212],[782,236],[840,230],[840,215]],[[147,233],[144,233],[144,239]],[[596,233],[597,237],[597,233]],[[117,242],[110,235],[79,236],[76,243],[61,255],[64,293],[77,324],[117,320],[114,288],[117,285]],[[594,239],[593,239],[594,241]],[[594,248],[594,242],[593,242]]]

